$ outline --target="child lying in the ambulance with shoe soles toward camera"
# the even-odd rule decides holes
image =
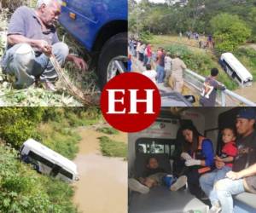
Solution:
[[[151,187],[156,187],[164,184],[164,177],[167,176],[166,170],[160,168],[159,163],[156,158],[148,158],[146,164],[146,170],[143,172],[143,176],[138,178],[138,181],[134,178],[130,178],[128,181],[128,187],[138,193],[148,193]],[[172,184],[170,190],[177,191],[179,188],[183,187],[183,178],[181,176],[177,181]],[[182,181],[181,181],[182,180]],[[174,187],[173,187],[174,186]]]

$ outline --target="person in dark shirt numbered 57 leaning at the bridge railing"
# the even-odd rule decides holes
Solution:
[[[211,76],[207,77],[201,89],[200,103],[202,107],[215,107],[217,89],[226,89],[224,85],[216,80],[218,69],[212,68]]]

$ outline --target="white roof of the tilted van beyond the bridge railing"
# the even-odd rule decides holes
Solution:
[[[250,72],[247,71],[247,68],[241,64],[239,60],[236,59],[236,57],[231,53],[224,53],[221,55],[221,60],[225,60],[233,70],[236,71],[237,74],[243,79],[251,78],[253,79],[253,76]]]

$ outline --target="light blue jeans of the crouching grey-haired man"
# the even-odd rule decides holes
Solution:
[[[52,45],[52,53],[60,65],[64,65],[69,49],[66,43]],[[35,78],[41,81],[55,81],[58,78],[49,57],[41,54],[36,57],[34,50],[27,43],[18,43],[8,49],[4,55],[5,71],[17,78],[15,85],[24,88],[32,85]]]

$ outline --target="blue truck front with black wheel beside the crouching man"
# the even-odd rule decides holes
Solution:
[[[84,46],[102,87],[127,66],[127,0],[63,0],[60,23]]]

